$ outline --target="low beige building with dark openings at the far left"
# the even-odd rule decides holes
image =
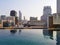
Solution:
[[[9,16],[6,17],[6,19],[2,19],[0,21],[0,27],[9,27],[9,26],[14,26],[15,25],[15,17]]]

